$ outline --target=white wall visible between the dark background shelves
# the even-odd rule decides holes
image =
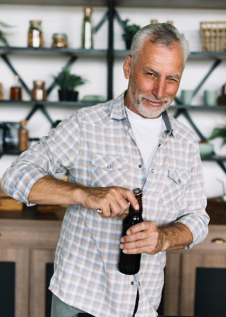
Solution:
[[[97,7],[93,12],[93,24],[97,25],[103,17],[107,8]],[[174,25],[182,32],[190,41],[191,51],[201,51],[201,40],[199,33],[200,21],[224,21],[226,10],[184,10],[184,9],[128,9],[117,8],[122,19],[129,18],[131,22],[144,26],[150,23],[151,19],[157,19],[158,22],[166,22],[172,20]],[[83,11],[82,7],[53,7],[53,6],[24,6],[24,5],[0,5],[0,21],[14,25],[15,27],[6,29],[7,38],[10,46],[26,47],[27,31],[29,20],[41,19],[44,34],[44,46],[51,47],[52,34],[56,32],[65,32],[68,35],[69,47],[80,47],[80,34],[82,24]],[[114,25],[114,48],[124,49],[124,43],[121,38],[121,27],[115,21]],[[107,24],[105,23],[97,34],[94,36],[94,46],[96,49],[107,48]],[[32,88],[32,81],[42,79],[46,81],[48,88],[52,82],[52,75],[59,72],[62,66],[68,61],[69,57],[65,56],[23,56],[9,55],[9,58],[28,87]],[[211,77],[206,81],[199,94],[194,98],[193,104],[199,105],[203,103],[204,89],[217,89],[220,92],[221,86],[226,81],[225,70],[226,62],[222,62],[220,66],[214,70]],[[126,89],[127,81],[123,78],[122,72],[123,58],[118,59],[114,63],[114,97],[119,95]],[[197,60],[188,61],[184,71],[182,83],[177,96],[180,96],[181,89],[194,89],[200,83],[203,76],[209,70],[213,60]],[[72,66],[71,70],[83,75],[88,82],[79,87],[79,99],[84,95],[103,95],[106,98],[106,61],[101,58],[87,59],[80,58]],[[9,89],[13,83],[13,74],[8,66],[0,60],[0,82],[4,85],[5,99],[9,96]],[[30,96],[23,91],[23,99],[29,100]],[[57,100],[57,88],[51,93],[49,100]],[[30,106],[0,106],[0,121],[20,121],[26,117],[30,110]],[[53,120],[66,117],[75,108],[64,107],[54,108],[47,107]],[[173,113],[173,112],[172,112]],[[225,123],[225,113],[223,111],[191,111],[191,116],[197,124],[201,132],[208,137],[212,129],[218,125]],[[188,124],[183,117],[179,120]],[[43,117],[40,112],[36,112],[28,123],[30,137],[40,137],[46,135],[50,130],[50,123]],[[214,150],[217,154],[225,155],[226,146],[220,146],[220,139],[212,141]],[[4,155],[0,159],[0,178],[4,170],[15,159],[15,156]],[[216,180],[218,177],[223,182],[226,181],[225,174],[216,163],[203,162],[203,171],[205,178],[205,188],[208,197],[221,195],[222,186]]]

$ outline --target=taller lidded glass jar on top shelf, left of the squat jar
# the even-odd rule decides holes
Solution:
[[[43,47],[41,20],[30,20],[27,45],[34,48]]]

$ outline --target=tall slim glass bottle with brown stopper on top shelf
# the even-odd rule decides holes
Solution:
[[[92,8],[85,7],[82,22],[81,47],[85,50],[93,49]]]

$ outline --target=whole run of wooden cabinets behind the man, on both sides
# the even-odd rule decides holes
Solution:
[[[48,285],[64,212],[61,208],[52,214],[38,213],[31,207],[22,212],[0,211],[0,264],[15,263],[13,317],[50,316]],[[191,250],[167,252],[162,314],[193,316],[197,268],[226,270],[225,217],[219,222],[224,224],[210,224],[204,242]]]

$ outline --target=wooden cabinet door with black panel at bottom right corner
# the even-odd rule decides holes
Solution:
[[[226,254],[223,252],[194,252],[189,254],[188,252],[188,254],[182,255],[182,293],[179,315],[194,315],[197,268],[226,269]],[[211,270],[208,272],[211,274]],[[208,301],[208,299],[206,300]]]

